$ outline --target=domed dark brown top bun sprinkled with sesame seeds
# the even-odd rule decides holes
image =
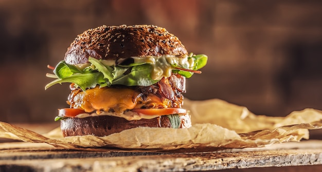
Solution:
[[[117,60],[131,56],[184,55],[187,50],[176,36],[153,25],[100,26],[78,35],[67,49],[68,64],[83,64],[88,57]]]

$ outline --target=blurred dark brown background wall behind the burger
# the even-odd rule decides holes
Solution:
[[[44,86],[77,34],[153,24],[209,57],[186,98],[218,98],[256,114],[322,109],[322,1],[0,0],[0,121],[51,122],[68,84]]]

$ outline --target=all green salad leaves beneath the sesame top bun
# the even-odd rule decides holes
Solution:
[[[192,59],[191,59],[192,58]],[[80,69],[75,65],[67,64],[61,61],[53,70],[53,74],[48,74],[50,78],[56,80],[48,83],[45,89],[55,84],[74,83],[75,86],[86,90],[87,88],[94,88],[97,85],[100,87],[111,85],[125,85],[125,86],[150,86],[159,80],[153,80],[151,73],[153,65],[149,63],[128,64],[128,65],[112,65],[106,66],[101,60],[88,58],[91,63],[90,66]],[[207,56],[204,54],[189,55],[188,61],[193,61],[193,66],[179,66],[178,64],[171,64],[172,72],[190,78],[193,72],[189,70],[199,70],[207,63]]]

